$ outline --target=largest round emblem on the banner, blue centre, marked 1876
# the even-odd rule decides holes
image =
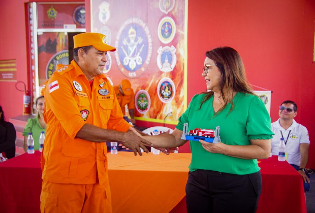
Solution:
[[[146,70],[152,55],[152,38],[141,19],[126,20],[117,33],[115,57],[119,70],[128,78],[137,78]]]

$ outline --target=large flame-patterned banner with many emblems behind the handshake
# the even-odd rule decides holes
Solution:
[[[117,48],[104,73],[129,79],[136,119],[175,124],[186,109],[185,20],[185,0],[91,0],[91,31]]]

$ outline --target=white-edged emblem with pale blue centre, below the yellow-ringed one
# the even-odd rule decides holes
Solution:
[[[162,72],[173,71],[176,65],[176,48],[172,45],[169,46],[160,46],[157,50],[157,66]]]

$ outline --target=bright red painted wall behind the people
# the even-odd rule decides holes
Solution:
[[[0,59],[16,58],[17,79],[26,82],[24,17],[23,0],[0,1]],[[298,105],[296,121],[306,126],[310,139],[314,139],[314,19],[313,0],[189,0],[188,101],[205,89],[201,77],[205,52],[217,46],[231,46],[242,56],[249,82],[273,91],[272,121],[278,119],[280,103],[291,99]],[[89,31],[89,17],[86,21]],[[22,96],[14,83],[0,82],[0,105],[7,118],[22,113]],[[314,152],[311,142],[310,153]],[[315,168],[312,154],[308,167]]]

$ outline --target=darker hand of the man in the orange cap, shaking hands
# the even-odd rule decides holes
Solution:
[[[145,147],[146,146],[152,146],[152,143],[144,138],[141,137],[141,135],[135,131],[132,127],[129,128],[129,130],[125,133],[125,140],[121,141],[124,146],[131,149],[135,156],[137,155],[137,152],[140,156],[142,156],[140,147],[148,153],[149,150]]]

